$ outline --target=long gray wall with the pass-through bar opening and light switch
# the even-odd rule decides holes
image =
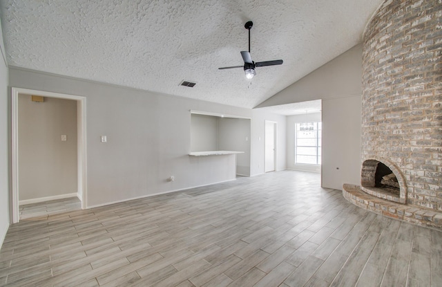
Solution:
[[[86,96],[87,205],[218,183],[234,178],[225,156],[188,156],[191,110],[251,118],[251,175],[264,172],[265,120],[285,131],[285,116],[11,67],[10,86]],[[285,142],[285,132],[278,133]],[[108,142],[100,142],[105,135]],[[285,169],[285,143],[278,168]],[[261,152],[262,150],[262,152]],[[284,151],[282,153],[282,150]],[[234,163],[233,163],[234,164]],[[169,182],[169,176],[175,181]]]

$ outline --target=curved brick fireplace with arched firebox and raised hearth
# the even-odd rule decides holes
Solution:
[[[441,0],[386,0],[369,21],[363,35],[361,186],[343,189],[367,210],[439,229],[441,23]]]

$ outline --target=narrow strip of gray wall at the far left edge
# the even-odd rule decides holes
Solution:
[[[0,246],[9,227],[9,154],[8,66],[0,24]]]

